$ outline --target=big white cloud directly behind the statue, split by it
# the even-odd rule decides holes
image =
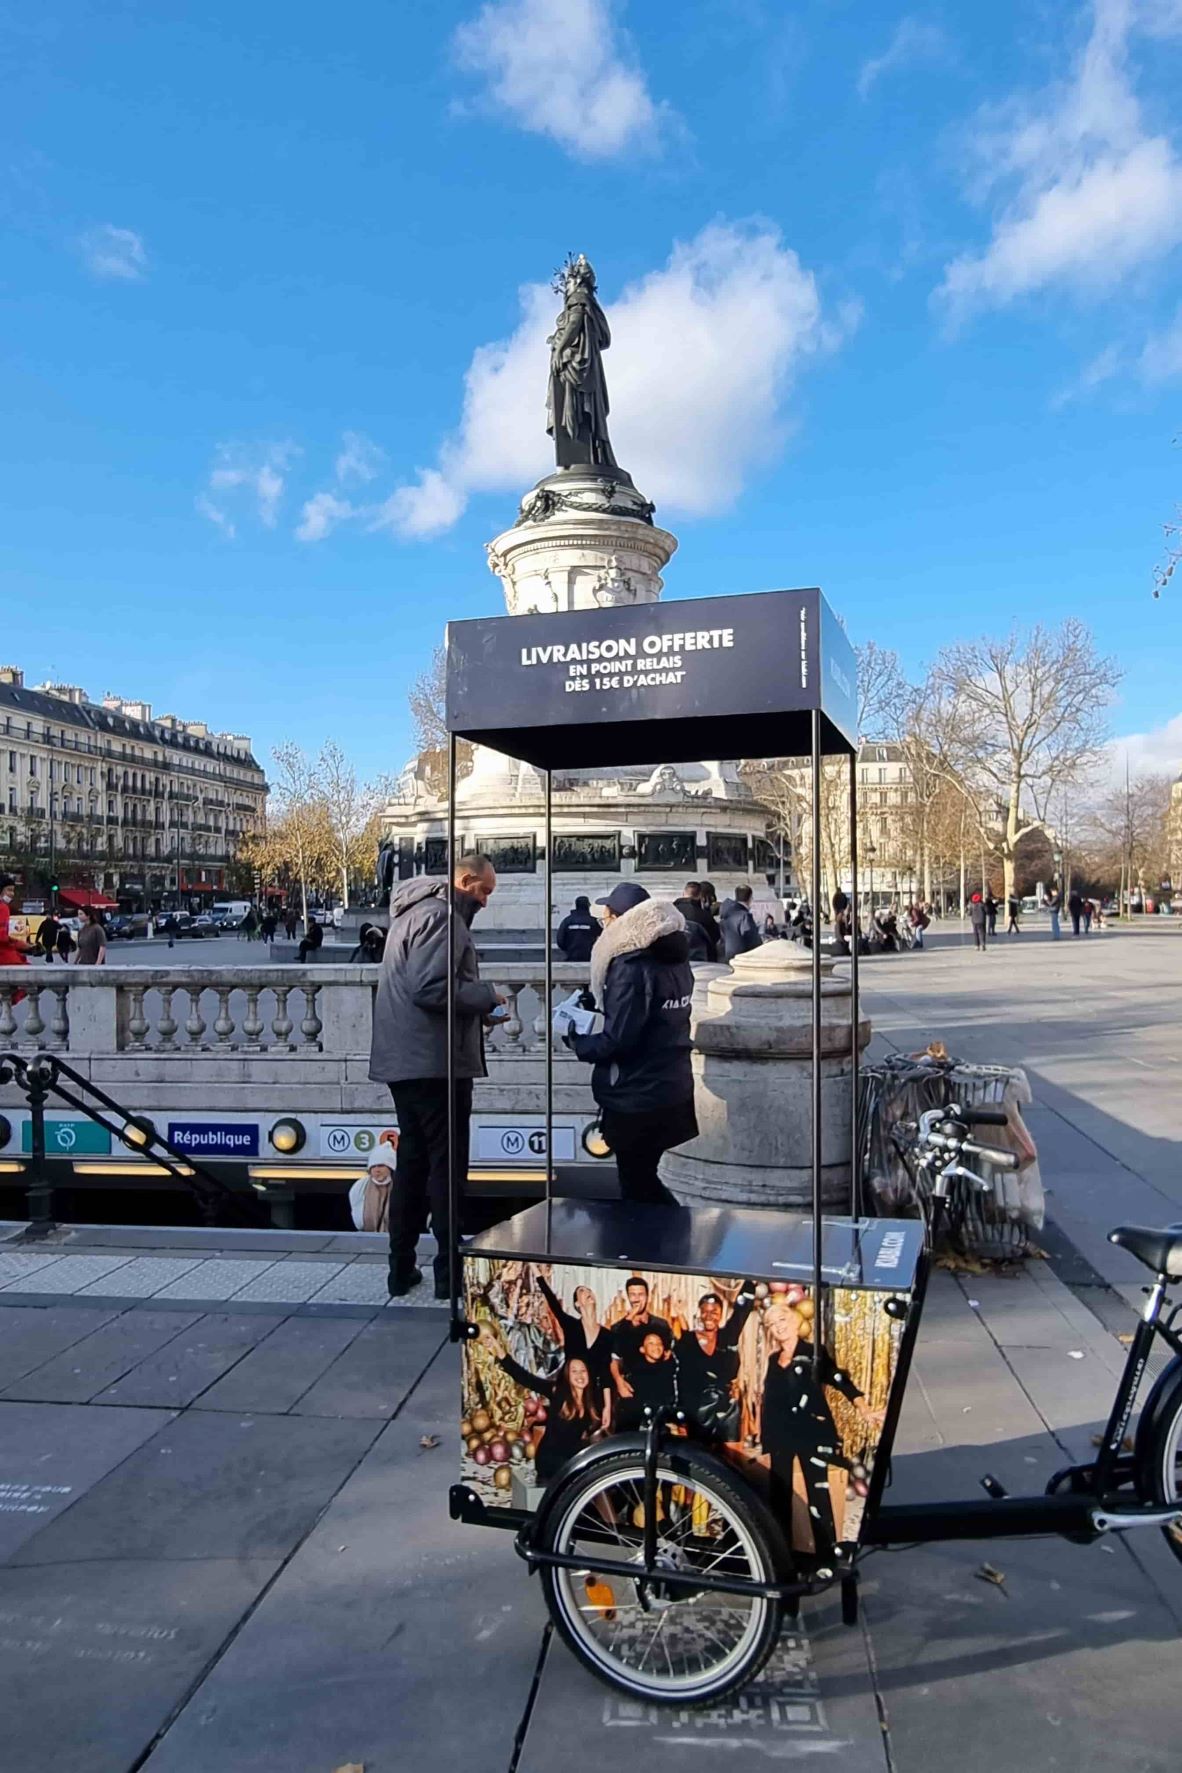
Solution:
[[[546,337],[558,298],[521,289],[512,339],[480,346],[464,378],[459,431],[438,466],[377,516],[399,535],[448,528],[471,493],[523,493],[553,466],[546,438]],[[611,441],[636,486],[672,511],[723,511],[783,443],[785,401],[808,356],[856,324],[826,324],[812,271],[769,223],[711,223],[608,307]]]

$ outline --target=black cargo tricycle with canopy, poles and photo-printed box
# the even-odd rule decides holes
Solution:
[[[696,1704],[750,1681],[801,1596],[838,1583],[858,1606],[874,1548],[937,1539],[1159,1527],[1182,1557],[1182,1337],[1166,1300],[1182,1229],[1122,1227],[1154,1273],[1092,1464],[1042,1495],[884,1504],[920,1330],[923,1225],[863,1209],[858,1135],[858,941],[851,943],[851,1200],[820,1195],[820,940],[812,949],[812,1213],[665,1209],[555,1197],[551,778],[707,757],[808,757],[812,906],[820,936],[820,780],[849,771],[858,906],[856,661],[819,590],[457,622],[447,645],[448,867],[457,741],[533,764],[546,789],[546,1197],[452,1245],[452,1337],[463,1342],[457,1519],[509,1528],[540,1571],[551,1617],[604,1681]],[[452,931],[454,940],[454,931]],[[454,956],[452,956],[454,959]],[[454,975],[454,972],[452,972]],[[753,989],[758,989],[755,986]],[[454,1051],[454,1044],[448,1041]],[[996,1108],[923,1117],[939,1202]],[[455,1124],[452,1122],[452,1147]],[[463,1152],[452,1151],[459,1227]],[[1150,1347],[1173,1360],[1125,1450]]]

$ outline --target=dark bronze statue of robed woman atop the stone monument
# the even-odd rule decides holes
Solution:
[[[595,273],[583,257],[571,259],[555,284],[564,309],[549,344],[546,429],[560,468],[618,468],[608,440],[608,383],[603,353],[611,344],[608,317],[595,300]]]

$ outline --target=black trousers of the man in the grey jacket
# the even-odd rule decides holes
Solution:
[[[448,1278],[452,1220],[447,1186],[447,1078],[409,1078],[392,1083],[399,1115],[399,1154],[390,1190],[390,1278],[404,1282],[415,1266],[418,1243],[431,1215],[436,1238],[436,1282]],[[463,1197],[468,1181],[468,1126],[471,1078],[455,1082],[455,1183]]]

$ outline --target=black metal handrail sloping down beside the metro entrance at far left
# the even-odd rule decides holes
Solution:
[[[69,1080],[62,1083],[62,1078]],[[58,1053],[34,1053],[25,1058],[21,1053],[0,1053],[0,1083],[16,1083],[28,1099],[30,1117],[30,1163],[28,1163],[28,1232],[32,1238],[46,1238],[57,1220],[53,1218],[53,1177],[44,1144],[44,1110],[50,1097],[57,1097],[69,1108],[94,1121],[106,1133],[117,1138],[128,1151],[138,1156],[152,1156],[168,1174],[181,1183],[202,1209],[206,1225],[243,1225],[262,1223],[253,1197],[243,1197],[229,1188],[220,1175],[195,1163],[190,1152],[177,1151],[172,1140],[147,1119],[147,1115],[129,1113],[113,1096],[101,1090],[97,1083],[83,1078]],[[76,1094],[82,1092],[82,1094]],[[96,1108],[94,1097],[101,1105]],[[117,1119],[108,1119],[103,1110]]]

